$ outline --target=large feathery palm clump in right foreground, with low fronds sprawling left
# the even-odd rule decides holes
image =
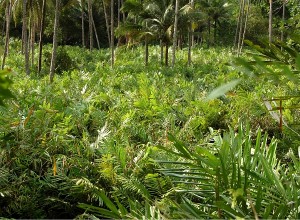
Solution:
[[[106,218],[300,217],[300,162],[292,151],[287,154],[290,165],[281,164],[276,158],[277,141],[263,135],[260,129],[252,133],[249,126],[240,125],[237,133],[230,130],[223,137],[211,129],[210,137],[213,143],[187,147],[169,134],[173,147],[148,148],[144,158],[163,156],[158,153],[159,148],[168,153],[168,157],[163,156],[168,160],[156,160],[161,164],[159,171],[165,175],[160,181],[172,181],[172,187],[160,197],[154,199],[145,183],[140,185],[132,177],[127,183],[122,178],[125,187],[141,193],[143,199],[139,201],[143,202],[136,202],[132,193],[126,193],[124,200],[122,194],[108,196],[99,189],[96,194],[103,201],[102,207],[79,207]],[[158,176],[153,174],[152,181],[158,181]]]

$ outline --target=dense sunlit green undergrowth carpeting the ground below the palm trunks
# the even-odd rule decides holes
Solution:
[[[230,49],[61,49],[49,84],[25,76],[19,43],[7,60],[15,99],[0,106],[0,216],[8,218],[299,218],[298,136],[279,130],[263,98],[297,85],[245,78]],[[64,65],[62,65],[64,64]],[[297,121],[297,114],[284,112]],[[268,133],[269,135],[264,133]],[[275,137],[273,139],[272,137]],[[180,141],[179,141],[180,140]],[[279,158],[276,156],[279,156]],[[280,162],[283,161],[283,162]]]

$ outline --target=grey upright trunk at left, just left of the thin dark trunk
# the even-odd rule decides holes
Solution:
[[[22,27],[22,33],[23,33],[23,48],[24,48],[24,55],[25,55],[25,71],[26,74],[30,74],[29,70],[29,49],[28,49],[28,32],[27,32],[27,0],[23,0],[23,27]]]

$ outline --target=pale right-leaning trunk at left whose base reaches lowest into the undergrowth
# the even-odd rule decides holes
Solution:
[[[55,3],[55,19],[54,19],[54,33],[53,33],[53,48],[52,48],[52,57],[50,65],[50,83],[53,82],[54,73],[55,73],[55,64],[56,64],[56,55],[57,55],[57,37],[59,31],[59,17],[60,17],[60,1],[56,0]]]

